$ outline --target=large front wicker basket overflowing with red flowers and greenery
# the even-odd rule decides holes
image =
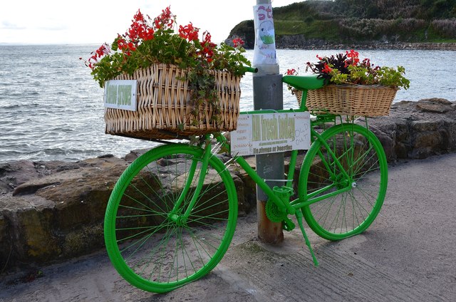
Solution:
[[[170,6],[155,19],[138,10],[128,31],[103,44],[86,61],[100,87],[108,80],[137,80],[137,110],[105,108],[106,133],[172,139],[236,129],[241,39],[233,46],[199,39],[192,23],[177,28]]]

